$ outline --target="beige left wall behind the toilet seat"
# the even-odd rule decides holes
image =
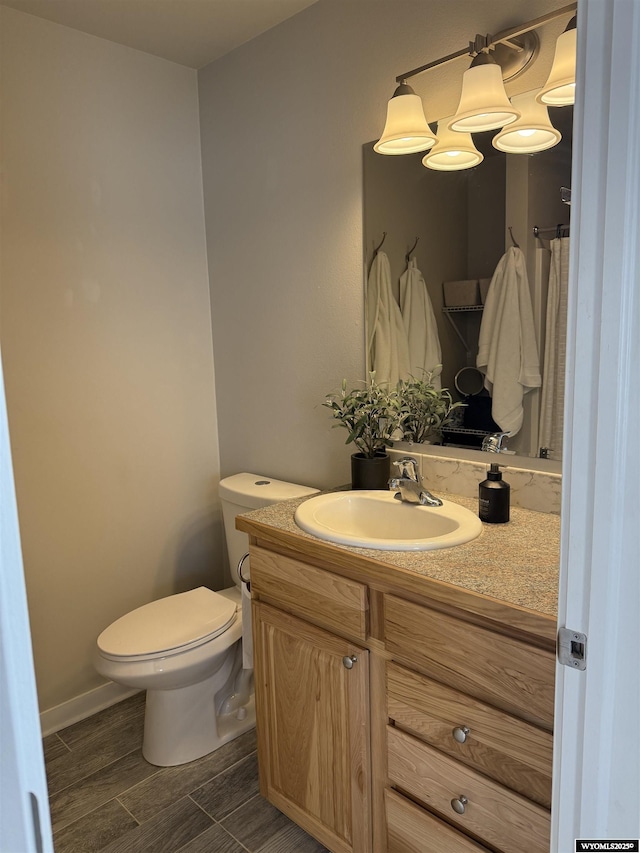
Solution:
[[[0,330],[43,710],[102,683],[114,618],[220,581],[197,88],[0,11]]]

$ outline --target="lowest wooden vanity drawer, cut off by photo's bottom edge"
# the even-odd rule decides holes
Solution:
[[[395,791],[386,790],[387,853],[488,853]]]

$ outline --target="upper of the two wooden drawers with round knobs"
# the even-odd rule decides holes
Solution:
[[[393,663],[387,697],[388,716],[402,729],[550,808],[549,732]]]

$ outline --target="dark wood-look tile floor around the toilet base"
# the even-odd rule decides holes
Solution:
[[[56,853],[328,853],[258,793],[255,730],[155,767],[143,718],[139,693],[44,739]]]

